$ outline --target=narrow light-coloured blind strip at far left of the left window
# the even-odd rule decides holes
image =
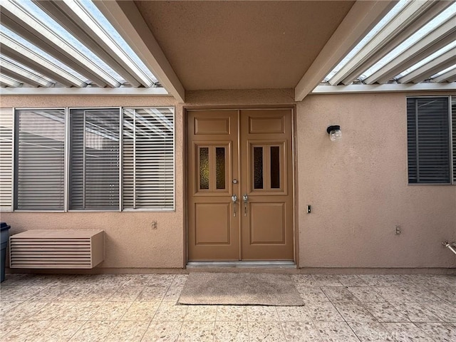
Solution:
[[[0,108],[0,210],[11,211],[13,198],[13,109]]]

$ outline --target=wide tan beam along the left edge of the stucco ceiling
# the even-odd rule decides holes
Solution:
[[[178,102],[185,102],[185,89],[180,83],[165,53],[152,35],[133,1],[94,1],[95,6],[110,21],[139,56],[160,84]]]

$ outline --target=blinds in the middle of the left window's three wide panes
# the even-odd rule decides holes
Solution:
[[[70,110],[70,203],[73,210],[118,210],[119,109]]]

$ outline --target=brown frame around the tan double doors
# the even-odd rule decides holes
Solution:
[[[183,261],[184,265],[183,268],[187,268],[188,263],[188,172],[187,170],[189,167],[189,146],[187,144],[187,128],[188,128],[188,111],[190,110],[264,110],[264,109],[287,109],[291,110],[291,164],[292,164],[292,179],[293,182],[291,189],[293,190],[292,200],[293,200],[293,260],[296,265],[296,268],[299,269],[299,229],[298,229],[298,184],[297,184],[297,151],[296,151],[296,105],[186,105],[182,107],[182,143],[183,143],[183,152],[184,152],[184,159],[183,159],[183,182],[182,182],[182,196],[184,197],[183,200],[183,214],[184,214],[184,222],[183,222]],[[238,123],[238,127],[240,128],[240,120]],[[238,138],[239,139],[239,138]],[[239,147],[238,147],[239,148]],[[240,261],[243,262],[243,261]],[[244,261],[249,262],[250,261]]]

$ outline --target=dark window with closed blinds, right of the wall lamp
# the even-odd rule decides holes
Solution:
[[[454,99],[451,102],[447,96],[407,98],[410,184],[454,182],[456,119],[451,113],[451,107],[455,107]]]

